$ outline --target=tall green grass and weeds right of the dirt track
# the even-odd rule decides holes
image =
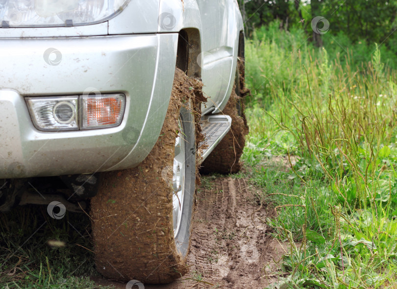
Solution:
[[[243,156],[259,198],[276,206],[274,236],[290,242],[291,275],[276,285],[397,286],[397,73],[376,45],[360,63],[354,49],[341,59],[276,27],[246,46]],[[296,162],[272,165],[277,155]]]

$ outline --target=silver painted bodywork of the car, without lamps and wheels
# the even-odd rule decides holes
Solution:
[[[222,109],[230,96],[242,27],[234,0],[147,0],[131,1],[100,24],[0,28],[0,107],[6,108],[0,117],[0,178],[137,166],[165,119],[178,32],[199,31],[201,53],[189,61],[198,64],[203,91],[211,97],[202,106],[206,114]],[[61,53],[59,64],[46,61],[49,48]],[[120,126],[69,132],[34,128],[25,96],[73,96],[87,89],[126,95]]]

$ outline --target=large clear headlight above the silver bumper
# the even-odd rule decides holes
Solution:
[[[129,1],[0,0],[0,25],[31,27],[95,24],[123,11]]]

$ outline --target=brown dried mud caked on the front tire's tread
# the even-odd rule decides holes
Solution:
[[[148,157],[137,168],[102,173],[91,218],[97,270],[109,279],[170,282],[187,271],[174,241],[172,171],[166,178],[162,171],[174,163],[180,107],[192,110],[192,100],[200,116],[201,88],[176,69],[166,120]]]

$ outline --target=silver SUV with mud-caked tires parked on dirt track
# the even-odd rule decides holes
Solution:
[[[105,277],[179,278],[199,170],[241,166],[237,1],[5,0],[0,25],[0,211],[85,211]]]

